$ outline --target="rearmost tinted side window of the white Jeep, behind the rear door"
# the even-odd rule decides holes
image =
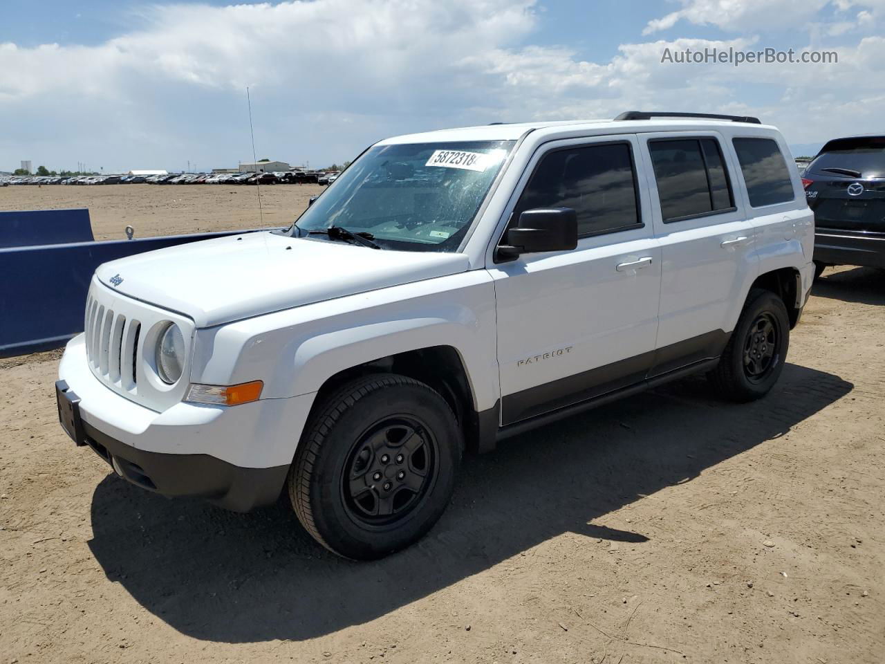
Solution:
[[[794,199],[787,162],[776,142],[770,138],[735,138],[734,143],[750,205],[761,207]]]

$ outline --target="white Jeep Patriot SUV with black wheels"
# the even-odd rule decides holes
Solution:
[[[100,266],[60,420],[129,482],[275,501],[334,552],[404,547],[465,449],[705,372],[777,381],[812,212],[755,118],[627,112],[390,138],[288,229]]]

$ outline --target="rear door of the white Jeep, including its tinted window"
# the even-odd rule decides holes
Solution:
[[[661,246],[655,376],[720,355],[758,262],[723,137],[666,132],[641,143]]]

